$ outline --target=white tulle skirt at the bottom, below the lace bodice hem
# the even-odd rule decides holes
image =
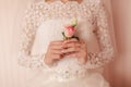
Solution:
[[[50,77],[50,73],[40,73],[32,78],[26,87],[110,87],[100,73],[66,80]]]

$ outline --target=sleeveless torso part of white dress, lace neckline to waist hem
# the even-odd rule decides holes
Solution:
[[[38,2],[36,9],[38,9],[38,16],[40,17],[33,53],[46,53],[50,41],[62,40],[63,26],[69,24],[73,17],[78,18],[76,36],[87,44],[88,52],[98,51],[98,44],[94,34],[95,17],[91,3],[90,0],[83,0],[82,3],[75,1],[67,3],[61,1]],[[52,75],[59,79],[81,77],[88,73],[78,63],[75,58],[63,58],[49,71],[53,72]]]

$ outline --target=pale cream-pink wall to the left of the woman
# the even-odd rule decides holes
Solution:
[[[29,70],[20,67],[16,62],[20,28],[15,21],[21,21],[16,18],[22,16],[23,7],[28,2],[0,0],[0,87],[20,87],[32,76]]]

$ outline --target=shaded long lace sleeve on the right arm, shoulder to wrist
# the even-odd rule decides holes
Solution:
[[[108,14],[106,12],[105,5],[100,1],[96,7],[93,8],[97,25],[95,34],[99,42],[100,51],[97,53],[88,52],[88,61],[85,65],[86,69],[100,67],[114,58],[114,47],[111,45],[111,38],[109,35]]]

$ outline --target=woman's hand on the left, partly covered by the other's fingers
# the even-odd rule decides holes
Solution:
[[[52,65],[56,61],[62,59],[63,58],[62,49],[63,40],[50,42],[45,54],[44,62],[47,65]]]

